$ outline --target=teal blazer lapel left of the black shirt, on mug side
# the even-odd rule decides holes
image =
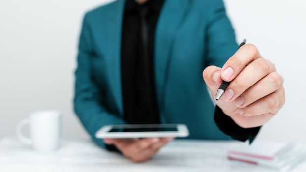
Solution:
[[[113,95],[116,107],[120,113],[123,114],[122,105],[122,86],[121,86],[121,32],[122,32],[122,19],[124,12],[125,0],[118,0],[114,2],[113,8],[109,9],[105,15],[107,15],[107,22],[105,27],[107,28],[107,58],[106,72],[108,76],[108,82],[110,86],[111,95]]]

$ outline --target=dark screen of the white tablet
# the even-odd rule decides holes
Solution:
[[[112,128],[109,132],[158,132],[178,131],[177,127]]]

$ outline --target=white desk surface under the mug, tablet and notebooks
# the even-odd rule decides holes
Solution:
[[[133,163],[87,140],[63,141],[52,153],[39,153],[15,138],[0,140],[0,172],[275,172],[229,161],[236,142],[181,141],[164,147],[153,159]],[[306,172],[306,163],[292,172]]]

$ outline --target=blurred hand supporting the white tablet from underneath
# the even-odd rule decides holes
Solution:
[[[165,144],[173,138],[145,138],[145,139],[104,139],[107,144],[114,144],[122,154],[134,162],[150,159]]]

